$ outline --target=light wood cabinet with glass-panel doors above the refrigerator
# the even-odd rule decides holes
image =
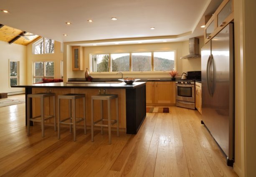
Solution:
[[[213,16],[205,24],[205,44],[234,20],[233,0],[223,0]]]

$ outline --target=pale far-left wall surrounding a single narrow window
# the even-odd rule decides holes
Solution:
[[[10,88],[9,59],[20,61],[20,85],[26,84],[26,46],[0,41],[0,93],[25,91],[24,88]]]

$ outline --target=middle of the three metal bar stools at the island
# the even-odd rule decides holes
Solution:
[[[84,110],[84,117],[77,118],[76,117],[76,99],[83,98],[83,110]],[[61,120],[61,107],[60,101],[61,99],[68,99],[68,110],[69,110],[69,117]],[[72,101],[72,103],[71,103]],[[72,111],[71,111],[72,107]],[[72,117],[73,112],[73,117]],[[70,122],[67,122],[70,120]],[[72,132],[72,125],[73,125],[73,134],[74,134],[74,141],[76,141],[76,123],[79,123],[84,120],[84,134],[86,134],[86,117],[85,117],[85,94],[76,94],[76,93],[68,93],[65,95],[58,95],[58,139],[61,138],[60,135],[60,124],[68,124],[69,131]]]

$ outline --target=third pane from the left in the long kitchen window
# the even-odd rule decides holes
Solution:
[[[132,53],[132,71],[151,71],[151,52]]]

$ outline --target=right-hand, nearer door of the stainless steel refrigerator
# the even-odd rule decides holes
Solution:
[[[232,28],[231,24],[231,28]],[[233,29],[233,28],[232,28]],[[231,34],[230,34],[231,33]],[[230,37],[231,35],[231,37]],[[211,126],[208,127],[211,134],[220,145],[225,154],[233,157],[233,30],[230,25],[219,32],[211,43]],[[232,121],[232,123],[230,122]]]

